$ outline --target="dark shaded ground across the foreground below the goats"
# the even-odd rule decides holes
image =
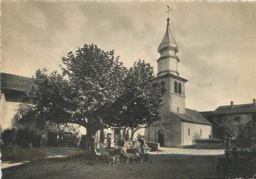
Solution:
[[[113,167],[108,166],[107,159],[68,157],[26,163],[2,172],[3,179],[248,178],[256,174],[255,160],[248,159],[226,161],[216,156],[152,155],[152,161],[129,164],[121,161],[119,166]]]

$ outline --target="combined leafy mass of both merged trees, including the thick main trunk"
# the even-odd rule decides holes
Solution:
[[[87,143],[108,126],[135,128],[158,120],[161,96],[152,66],[137,61],[127,70],[114,51],[84,45],[62,57],[62,73],[37,70],[29,97],[33,115],[87,129]]]

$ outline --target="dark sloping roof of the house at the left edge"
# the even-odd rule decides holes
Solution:
[[[34,85],[31,78],[14,74],[1,73],[1,91],[28,91]]]

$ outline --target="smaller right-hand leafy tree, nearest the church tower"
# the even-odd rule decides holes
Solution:
[[[112,126],[130,128],[132,140],[136,130],[160,119],[162,93],[152,66],[142,60],[129,68],[123,85],[123,93],[109,109],[105,108],[108,113],[104,117]]]

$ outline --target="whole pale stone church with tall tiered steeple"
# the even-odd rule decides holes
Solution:
[[[148,142],[161,147],[188,147],[197,138],[212,138],[212,124],[198,111],[186,108],[185,84],[178,72],[179,47],[173,38],[170,19],[165,36],[158,47],[158,73],[155,80],[163,88],[161,120],[145,130]]]

